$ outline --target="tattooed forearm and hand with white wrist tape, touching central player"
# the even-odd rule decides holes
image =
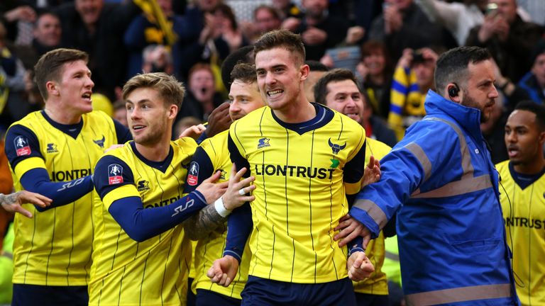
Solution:
[[[227,215],[231,213],[231,207],[237,208],[245,202],[254,200],[254,196],[246,196],[246,193],[250,193],[255,189],[254,185],[250,185],[255,178],[251,176],[241,181],[245,173],[246,168],[235,172],[235,168],[233,167],[229,178],[229,186],[226,193],[221,197],[222,200],[216,200],[217,203],[214,202],[214,205],[208,205],[200,210],[197,215],[190,217],[184,222],[185,234],[187,234],[189,239],[201,239],[226,221]],[[199,190],[199,187],[197,187],[197,190]],[[218,207],[217,205],[222,205],[223,207]]]

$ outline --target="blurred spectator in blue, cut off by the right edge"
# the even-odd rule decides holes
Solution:
[[[532,69],[524,74],[519,86],[535,103],[545,103],[545,40],[540,40],[532,52]]]

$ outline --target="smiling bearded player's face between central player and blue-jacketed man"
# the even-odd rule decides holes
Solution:
[[[329,82],[326,86],[327,107],[347,115],[357,123],[363,120],[363,100],[352,80]]]

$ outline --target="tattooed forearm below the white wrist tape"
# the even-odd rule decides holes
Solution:
[[[197,215],[184,222],[185,234],[192,240],[202,239],[226,220],[226,217],[219,215],[214,205],[207,205],[207,207],[199,210]]]

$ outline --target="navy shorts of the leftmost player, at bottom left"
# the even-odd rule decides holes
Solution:
[[[12,306],[87,306],[87,286],[47,286],[13,284]]]

